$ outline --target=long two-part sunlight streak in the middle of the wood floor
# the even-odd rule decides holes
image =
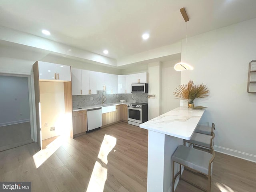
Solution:
[[[108,164],[108,154],[114,146],[116,146],[116,138],[105,134],[98,154],[99,161],[94,164],[86,192],[103,192],[108,174],[108,169],[105,166]]]

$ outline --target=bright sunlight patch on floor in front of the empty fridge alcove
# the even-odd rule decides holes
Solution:
[[[64,139],[64,136],[59,136],[53,142],[48,144],[46,148],[33,155],[36,168],[40,167],[52,154],[54,154],[58,148],[60,148],[61,144],[64,142]]]

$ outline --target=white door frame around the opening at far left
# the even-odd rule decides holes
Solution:
[[[36,106],[35,106],[34,74],[33,74],[33,72],[25,73],[25,72],[12,72],[12,71],[0,70],[0,75],[28,78],[28,99],[29,99],[29,109],[30,109],[31,139],[34,142],[37,142]]]

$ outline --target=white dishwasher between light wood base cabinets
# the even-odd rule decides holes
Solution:
[[[87,110],[87,131],[100,128],[102,126],[101,107]]]

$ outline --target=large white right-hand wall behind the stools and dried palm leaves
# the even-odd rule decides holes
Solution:
[[[215,122],[215,149],[256,161],[256,94],[246,92],[248,63],[256,59],[256,19],[188,38],[187,46],[194,70],[181,72],[181,83],[192,79],[209,88],[209,98],[195,105],[208,107],[201,123]]]

